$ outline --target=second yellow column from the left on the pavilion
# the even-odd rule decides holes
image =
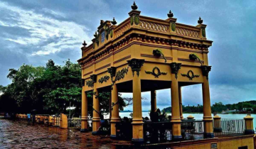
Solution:
[[[92,116],[92,134],[97,134],[97,130],[100,128],[100,102],[98,99],[99,93],[94,87],[93,89],[93,116]]]

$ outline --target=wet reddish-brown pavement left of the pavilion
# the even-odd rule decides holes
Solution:
[[[26,121],[0,118],[0,148],[114,148],[117,144],[127,142],[75,129],[39,124],[28,126]]]

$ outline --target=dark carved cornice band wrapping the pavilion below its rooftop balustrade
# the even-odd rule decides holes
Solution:
[[[139,43],[136,43],[137,41],[139,41]],[[157,43],[159,45],[151,45],[151,43],[154,43],[154,44]],[[90,65],[94,62],[100,62],[97,60],[105,60],[105,58],[110,57],[110,55],[119,53],[122,50],[129,48],[129,46],[133,44],[149,45],[155,48],[177,49],[177,50],[189,51],[193,53],[208,53],[208,47],[210,46],[210,45],[202,45],[198,43],[188,43],[180,40],[171,40],[171,39],[156,38],[156,37],[151,37],[146,35],[132,34],[132,35],[127,35],[126,38],[120,40],[117,43],[114,43],[110,47],[107,47],[105,50],[102,50],[102,52],[97,53],[96,55],[92,55],[89,59],[84,60],[83,62],[80,62],[80,65],[82,65],[82,67],[85,67],[86,65]],[[175,45],[177,47],[176,48],[170,47],[170,45]],[[84,58],[85,57],[83,57],[82,59]],[[78,61],[82,61],[82,59]]]

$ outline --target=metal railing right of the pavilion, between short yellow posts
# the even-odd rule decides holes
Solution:
[[[213,121],[214,123],[214,129],[218,130],[214,132],[215,136],[238,136],[245,131],[244,119],[221,118],[220,121]]]

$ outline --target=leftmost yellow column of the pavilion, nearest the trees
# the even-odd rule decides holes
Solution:
[[[85,92],[85,87],[82,87],[82,118],[81,118],[81,130],[80,132],[88,131],[88,114],[87,114],[87,95]]]

